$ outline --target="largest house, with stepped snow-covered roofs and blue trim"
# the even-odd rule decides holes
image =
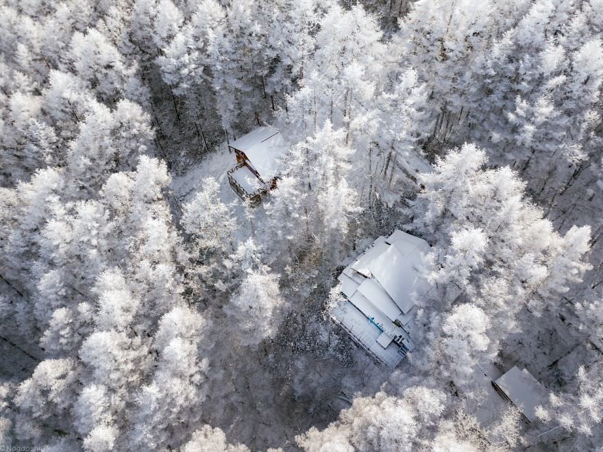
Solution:
[[[381,236],[341,275],[341,299],[329,314],[378,363],[395,368],[413,350],[415,297],[428,290],[421,269],[430,246],[396,230]]]

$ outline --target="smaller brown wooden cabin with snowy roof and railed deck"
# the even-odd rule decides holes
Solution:
[[[280,159],[287,150],[282,135],[269,125],[230,142],[236,165],[227,171],[230,186],[243,201],[259,203],[264,194],[275,188]]]

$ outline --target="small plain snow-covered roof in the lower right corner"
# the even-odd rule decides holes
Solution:
[[[547,403],[546,388],[526,369],[513,366],[494,383],[530,422],[536,419],[536,407]]]

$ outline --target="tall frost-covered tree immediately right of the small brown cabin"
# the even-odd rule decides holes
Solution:
[[[284,245],[297,250],[307,244],[336,262],[349,248],[345,239],[360,207],[352,179],[354,149],[345,145],[345,131],[329,121],[305,142],[293,147],[286,158],[284,191],[277,189],[268,206],[271,229]],[[291,215],[288,221],[283,221]],[[282,228],[282,229],[281,229]],[[295,252],[295,251],[294,251]]]

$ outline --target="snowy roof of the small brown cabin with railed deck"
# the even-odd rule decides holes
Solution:
[[[258,127],[234,140],[230,147],[245,153],[249,164],[265,182],[278,176],[280,158],[287,150],[286,142],[278,129],[269,125]]]

